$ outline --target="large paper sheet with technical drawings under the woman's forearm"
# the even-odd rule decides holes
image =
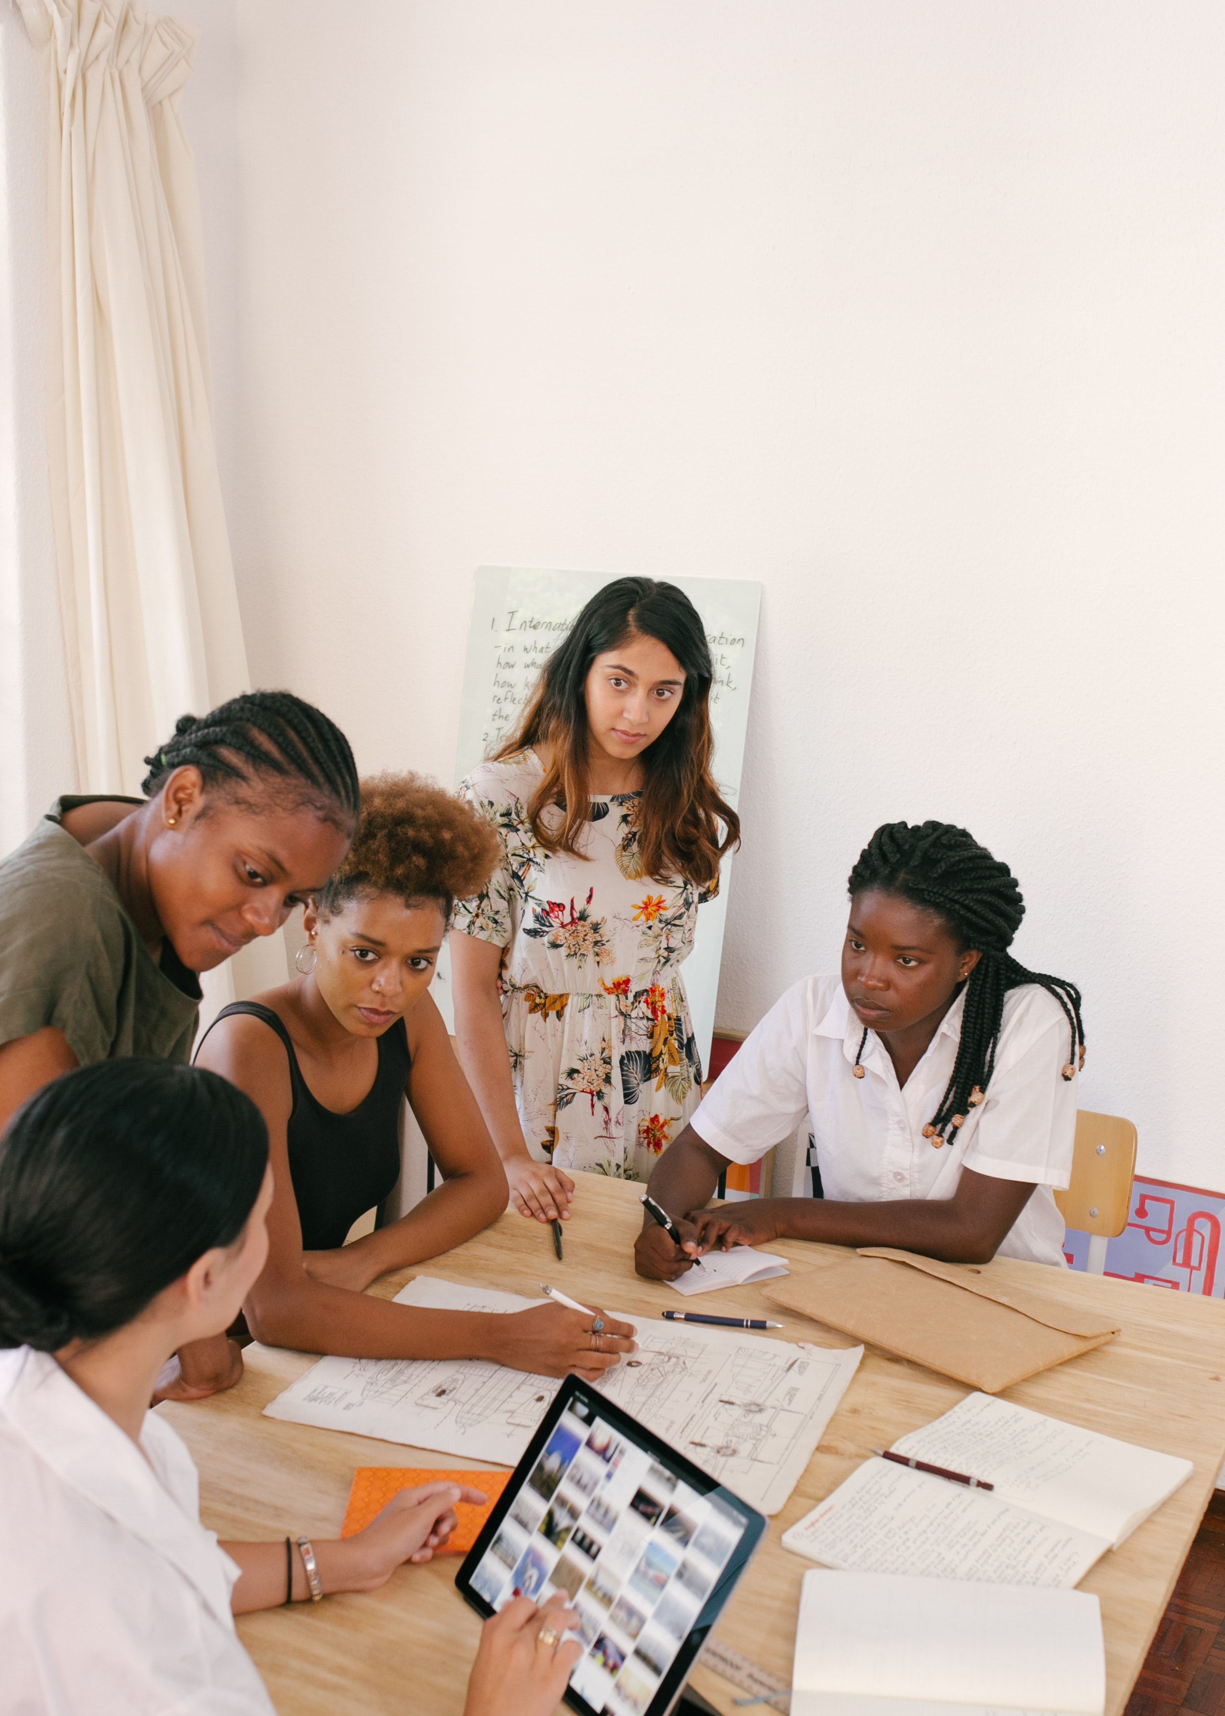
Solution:
[[[419,1275],[400,1304],[522,1311],[539,1299]],[[664,1323],[625,1311],[638,1352],[602,1392],[751,1507],[777,1514],[854,1376],[863,1347],[832,1350]],[[269,1417],[515,1465],[559,1383],[480,1359],[319,1359]]]

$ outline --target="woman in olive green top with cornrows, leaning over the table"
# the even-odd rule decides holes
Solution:
[[[197,975],[280,928],[348,851],[353,755],[290,692],[182,716],[144,760],[144,800],[60,798],[0,863],[0,1126],[74,1067],[187,1060]],[[242,1375],[225,1337],[178,1359],[161,1399]]]

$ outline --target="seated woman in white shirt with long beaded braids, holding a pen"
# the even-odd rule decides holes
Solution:
[[[966,829],[887,822],[849,877],[842,975],[796,983],[748,1036],[650,1179],[640,1275],[770,1239],[899,1246],[947,1263],[1064,1265],[1081,992],[1009,947],[1016,877]],[[815,1198],[707,1210],[731,1162],[806,1121]]]

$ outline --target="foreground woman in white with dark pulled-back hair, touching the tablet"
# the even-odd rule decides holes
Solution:
[[[233,1615],[376,1591],[475,1489],[401,1491],[353,1538],[226,1543],[148,1411],[166,1357],[228,1326],[268,1249],[268,1134],[211,1072],[106,1060],[0,1138],[0,1661],[29,1716],[273,1716]],[[465,1716],[549,1716],[578,1656],[559,1601],[482,1634]],[[554,1632],[549,1632],[549,1627]],[[546,1634],[546,1637],[542,1637]],[[405,1711],[410,1699],[405,1701]]]

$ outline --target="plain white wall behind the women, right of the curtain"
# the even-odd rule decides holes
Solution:
[[[475,565],[758,577],[721,1023],[836,966],[880,820],[964,822],[1084,987],[1083,1103],[1225,1189],[1216,0],[237,29],[256,681],[450,779]]]

